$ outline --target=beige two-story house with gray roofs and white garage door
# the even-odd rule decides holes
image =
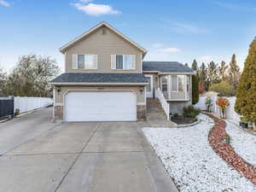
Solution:
[[[177,62],[143,61],[147,50],[106,22],[60,50],[65,73],[51,81],[55,121],[145,119],[147,97],[165,96],[160,102],[170,102],[177,112],[191,103],[193,70]]]

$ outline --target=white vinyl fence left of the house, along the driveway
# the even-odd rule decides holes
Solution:
[[[20,109],[20,113],[26,113],[38,108],[46,108],[52,104],[52,98],[15,96],[15,109]]]

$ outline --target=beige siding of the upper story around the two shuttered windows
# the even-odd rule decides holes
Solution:
[[[66,51],[67,73],[142,73],[142,51],[107,27],[96,30]],[[73,69],[73,55],[97,55],[97,69]],[[111,68],[111,55],[135,55],[135,69]]]

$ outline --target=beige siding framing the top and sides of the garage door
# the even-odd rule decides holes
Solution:
[[[146,102],[143,86],[61,86],[58,89],[59,92],[55,91],[55,103],[63,103],[63,95],[67,90],[133,90],[137,94],[137,103]],[[143,90],[143,93],[140,90]]]

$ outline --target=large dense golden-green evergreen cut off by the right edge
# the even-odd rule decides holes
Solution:
[[[250,44],[247,60],[236,91],[236,113],[253,122],[256,131],[256,38]]]

